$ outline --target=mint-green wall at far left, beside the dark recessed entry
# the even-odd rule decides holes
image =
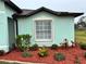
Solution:
[[[9,28],[8,16],[11,16],[13,11],[7,8],[4,2],[0,0],[0,50],[9,51]]]

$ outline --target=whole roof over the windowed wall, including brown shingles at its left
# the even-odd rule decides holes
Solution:
[[[34,15],[41,11],[54,14],[57,16],[74,16],[74,17],[76,17],[76,16],[84,14],[84,13],[74,13],[74,12],[57,12],[57,11],[52,11],[52,10],[44,8],[44,7],[37,9],[37,10],[22,10],[22,11],[23,11],[22,13],[15,13],[14,15],[16,15],[17,17],[30,16],[30,15]]]

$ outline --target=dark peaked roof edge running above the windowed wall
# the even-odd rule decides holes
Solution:
[[[53,15],[57,15],[57,16],[74,16],[74,17],[76,17],[76,16],[79,16],[79,15],[84,14],[84,13],[75,13],[75,12],[74,13],[73,12],[57,12],[57,11],[52,11],[50,9],[47,9],[45,7],[41,7],[41,8],[37,9],[37,10],[34,10],[30,13],[27,13],[25,15],[20,15],[20,14],[14,14],[14,15],[16,15],[16,17],[32,16],[32,15],[38,13],[38,12],[41,12],[41,11],[49,12],[49,13],[51,13]]]

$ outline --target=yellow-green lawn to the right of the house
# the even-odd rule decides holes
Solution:
[[[86,30],[75,30],[76,42],[86,42]]]

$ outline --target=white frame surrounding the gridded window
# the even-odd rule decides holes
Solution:
[[[50,20],[50,22],[51,22],[51,39],[37,39],[36,38],[36,21],[44,21],[44,20]],[[35,41],[41,41],[41,42],[50,42],[50,41],[52,41],[52,39],[53,39],[53,36],[52,36],[52,30],[53,30],[53,28],[52,28],[52,18],[35,18],[34,20],[34,25],[35,25],[35,27],[34,27],[34,30],[35,30]]]

